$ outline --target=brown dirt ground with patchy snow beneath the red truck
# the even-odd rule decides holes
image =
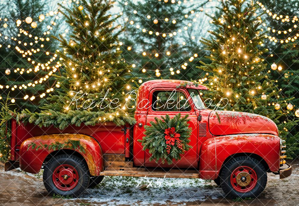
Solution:
[[[105,178],[103,184],[87,190],[75,199],[52,197],[45,189],[41,173],[20,170],[4,172],[0,163],[0,205],[206,205],[257,206],[299,205],[299,161],[288,161],[293,173],[286,179],[268,173],[266,189],[257,199],[231,200],[212,181],[199,179],[165,179],[160,188],[148,187],[138,179]],[[150,179],[156,181],[155,178]],[[145,182],[146,183],[146,182]]]

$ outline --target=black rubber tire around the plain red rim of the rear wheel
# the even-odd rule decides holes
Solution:
[[[70,165],[71,167],[74,168],[73,172],[78,177],[77,179],[74,179],[73,182],[77,181],[76,184],[74,184],[74,188],[68,191],[63,191],[60,190],[55,184],[57,185],[58,183],[54,183],[55,181],[55,174],[59,173],[59,170],[57,170],[54,174],[54,170],[56,170],[59,167],[62,167],[61,165]],[[65,167],[67,168],[67,167]],[[62,167],[63,169],[63,167]],[[57,176],[60,176],[60,174]],[[88,187],[89,185],[89,170],[86,165],[86,162],[74,155],[58,155],[50,159],[49,162],[44,167],[44,173],[43,173],[43,182],[45,185],[45,188],[48,190],[50,194],[59,194],[62,196],[72,196],[72,197],[77,197],[80,196]],[[54,179],[54,180],[53,180]],[[56,179],[57,180],[57,179]],[[58,182],[58,180],[57,180]],[[60,184],[60,183],[59,183]],[[58,186],[60,186],[58,184]],[[66,190],[68,189],[67,186],[65,187]]]

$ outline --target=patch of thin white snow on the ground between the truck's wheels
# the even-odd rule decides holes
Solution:
[[[171,205],[217,199],[219,196],[222,196],[221,188],[202,179],[110,176],[97,187],[87,190],[80,199],[94,205]]]

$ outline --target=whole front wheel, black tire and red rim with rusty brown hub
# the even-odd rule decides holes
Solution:
[[[267,173],[260,161],[252,157],[236,157],[228,161],[220,174],[220,185],[231,198],[256,198],[267,183]]]

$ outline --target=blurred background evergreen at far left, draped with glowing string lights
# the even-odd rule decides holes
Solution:
[[[49,12],[47,3],[12,0],[3,10],[7,18],[0,33],[0,94],[6,99],[10,92],[11,107],[19,111],[38,110],[46,102],[43,97],[56,89],[51,74],[59,72],[57,42],[51,35],[61,20]]]

